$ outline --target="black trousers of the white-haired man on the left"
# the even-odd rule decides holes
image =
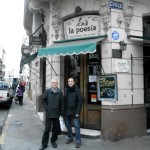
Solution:
[[[51,143],[56,142],[58,138],[58,128],[59,128],[59,118],[46,118],[45,120],[45,129],[44,134],[42,137],[42,145],[47,146],[49,142],[49,133],[52,128],[52,137],[51,137]]]

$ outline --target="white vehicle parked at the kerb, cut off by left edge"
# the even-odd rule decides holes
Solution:
[[[10,107],[13,99],[13,90],[9,82],[0,81],[0,106]]]

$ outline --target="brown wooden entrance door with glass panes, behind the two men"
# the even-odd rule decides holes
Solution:
[[[83,96],[81,127],[100,130],[101,102],[97,100],[96,76],[100,73],[97,53],[65,57],[65,83],[74,77]]]

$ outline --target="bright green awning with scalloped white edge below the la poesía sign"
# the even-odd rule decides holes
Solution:
[[[47,57],[47,56],[66,56],[66,55],[79,55],[79,54],[87,54],[94,53],[96,51],[97,42],[106,38],[107,35],[96,36],[93,38],[80,38],[73,40],[63,40],[63,41],[55,41],[49,47],[40,48],[38,50],[39,57]]]

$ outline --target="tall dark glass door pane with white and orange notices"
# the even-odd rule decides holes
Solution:
[[[97,75],[100,74],[100,56],[97,52],[87,54],[88,104],[101,104],[97,98]]]

